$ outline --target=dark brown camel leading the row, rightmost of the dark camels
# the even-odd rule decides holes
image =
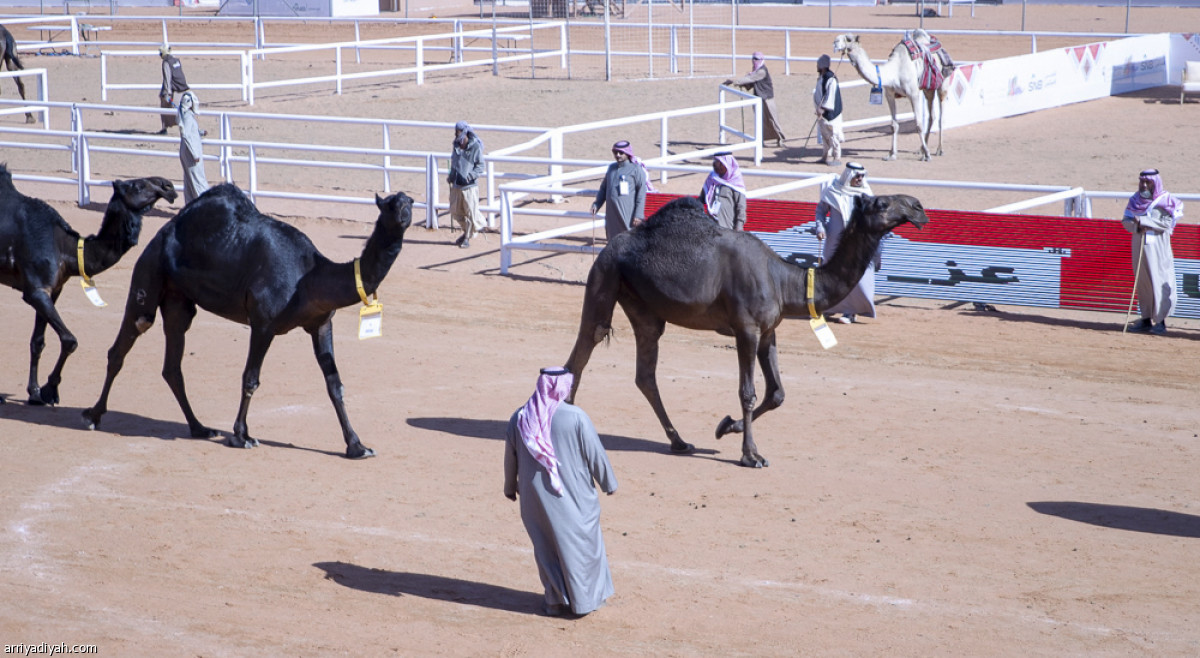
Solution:
[[[812,305],[823,313],[854,287],[889,231],[905,222],[928,221],[920,202],[906,195],[858,197],[838,250],[816,269]],[[784,402],[775,352],[775,328],[785,317],[806,318],[809,270],[787,263],[758,238],[720,228],[698,201],[672,201],[642,226],[622,233],[596,257],[588,274],[580,335],[566,361],[578,390],[592,351],[612,331],[616,304],[625,310],[637,345],[637,388],[659,417],[671,451],[695,448],[679,438],[659,396],[655,369],[659,337],[666,324],[716,331],[737,340],[742,419],[725,417],[716,438],[743,432],[743,466],[767,466],[758,454],[751,420]],[[755,358],[767,383],[755,408]]]

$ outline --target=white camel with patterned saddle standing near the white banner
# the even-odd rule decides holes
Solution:
[[[929,35],[924,30],[918,31],[920,32],[918,42],[924,38],[923,46],[928,46]],[[888,101],[888,112],[892,113],[892,152],[884,160],[896,158],[896,136],[900,134],[900,121],[896,120],[896,98],[900,97],[907,97],[912,103],[912,115],[917,122],[917,137],[920,138],[922,160],[930,158],[929,133],[932,130],[934,122],[932,120],[926,121],[926,118],[931,118],[934,114],[934,98],[938,100],[937,155],[942,155],[941,101],[946,98],[949,77],[942,82],[941,88],[937,90],[920,89],[918,80],[920,80],[920,76],[925,70],[925,61],[922,58],[912,59],[902,41],[892,49],[888,60],[878,66],[871,62],[871,58],[863,49],[858,35],[838,35],[833,42],[833,48],[850,59],[854,70],[858,71],[858,74],[864,80],[883,89],[883,96]],[[919,96],[925,97],[924,106],[917,102]],[[924,112],[922,112],[923,109]]]

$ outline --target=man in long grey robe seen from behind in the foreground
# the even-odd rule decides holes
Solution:
[[[617,477],[592,419],[563,401],[574,378],[566,369],[542,370],[504,443],[504,496],[520,494],[552,616],[587,615],[613,592],[595,485],[612,495]]]

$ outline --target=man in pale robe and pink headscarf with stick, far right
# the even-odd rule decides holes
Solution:
[[[1163,186],[1158,169],[1138,177],[1138,192],[1129,197],[1121,225],[1133,233],[1134,277],[1141,319],[1130,331],[1166,334],[1166,316],[1175,310],[1175,253],[1171,233],[1183,216],[1183,202]]]

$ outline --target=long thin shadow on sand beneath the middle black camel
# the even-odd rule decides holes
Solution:
[[[41,425],[48,427],[59,427],[61,430],[78,430],[86,432],[88,426],[84,424],[82,418],[82,407],[44,407],[34,406],[29,403],[20,402],[13,399],[8,394],[0,394],[8,397],[7,403],[0,405],[0,418],[6,420],[16,420],[18,423],[28,423],[30,425]],[[121,411],[109,411],[104,414],[103,424],[95,430],[98,433],[115,435],[126,438],[157,438],[160,441],[202,441],[205,443],[214,443],[217,445],[223,445],[226,438],[228,438],[229,432],[218,432],[216,437],[204,438],[193,437],[191,430],[187,427],[187,423],[180,423],[175,420],[161,420],[157,418],[150,418],[146,415],[137,413],[127,413]],[[334,450],[320,450],[317,448],[305,448],[302,445],[295,445],[292,443],[284,443],[281,441],[270,441],[257,437],[259,444],[269,445],[271,448],[292,448],[294,450],[306,450],[310,453],[318,453],[322,455],[331,456],[346,456],[340,451]]]

